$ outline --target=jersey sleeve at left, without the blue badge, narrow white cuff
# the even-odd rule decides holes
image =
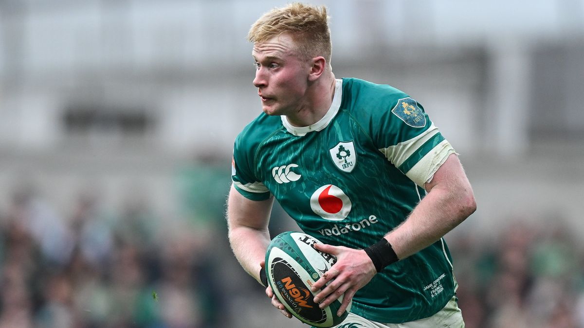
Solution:
[[[235,139],[231,160],[231,180],[242,196],[249,200],[261,201],[270,197],[270,191],[256,176],[252,142],[246,142],[243,135]]]

